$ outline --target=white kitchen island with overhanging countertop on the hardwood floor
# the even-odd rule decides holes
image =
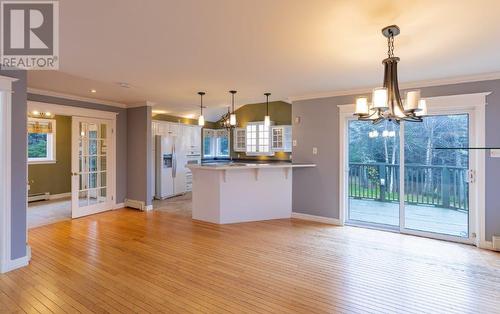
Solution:
[[[193,173],[192,217],[217,224],[290,218],[292,163],[188,165]]]

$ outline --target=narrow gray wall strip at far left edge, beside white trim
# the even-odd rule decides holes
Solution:
[[[12,94],[11,259],[26,256],[26,71],[1,70],[0,75],[19,79]]]

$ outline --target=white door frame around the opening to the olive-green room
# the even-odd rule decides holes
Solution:
[[[71,116],[73,117],[82,117],[89,119],[99,119],[99,120],[109,120],[111,126],[111,138],[109,143],[109,158],[110,158],[110,186],[109,193],[112,197],[112,207],[107,210],[112,210],[116,208],[121,208],[122,204],[117,203],[116,199],[116,116],[117,112],[110,111],[102,111],[102,110],[94,110],[80,107],[72,107],[72,106],[64,106],[57,105],[52,103],[44,103],[37,101],[28,101],[28,111],[38,110],[38,111],[48,111],[53,113],[54,115],[63,115],[63,116]],[[73,138],[73,137],[72,137]],[[73,147],[73,139],[71,140],[71,145]],[[71,152],[71,160],[73,163],[73,149]],[[71,166],[73,170],[73,165]],[[72,179],[73,180],[73,177]],[[73,184],[72,184],[73,185]],[[73,186],[71,187],[73,192]]]

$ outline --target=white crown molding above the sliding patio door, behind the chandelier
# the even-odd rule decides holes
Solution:
[[[403,90],[403,89],[412,89],[412,88],[423,88],[423,87],[452,85],[452,84],[471,83],[471,82],[480,82],[480,81],[492,81],[492,80],[498,80],[498,79],[500,79],[500,72],[492,72],[492,73],[484,73],[484,74],[478,74],[478,75],[457,76],[457,77],[445,78],[445,79],[406,82],[406,83],[399,84],[399,89]],[[373,87],[365,87],[365,88],[359,88],[359,89],[348,89],[348,90],[323,92],[323,93],[316,93],[316,94],[306,94],[303,96],[289,97],[288,101],[294,102],[294,101],[300,101],[300,100],[360,95],[360,94],[371,93],[372,90],[373,90]]]

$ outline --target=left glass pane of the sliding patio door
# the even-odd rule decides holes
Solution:
[[[399,134],[393,122],[349,121],[348,223],[399,229]]]

